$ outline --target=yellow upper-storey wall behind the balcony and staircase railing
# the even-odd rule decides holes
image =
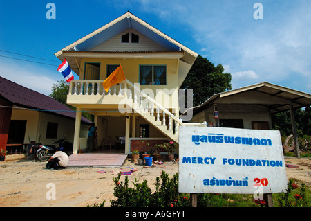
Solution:
[[[100,80],[106,79],[106,65],[120,64],[124,71],[124,76],[133,84],[139,83],[139,67],[140,64],[162,64],[167,66],[167,85],[140,85],[143,90],[151,97],[155,97],[156,101],[166,108],[174,108],[178,110],[178,60],[164,59],[101,59],[101,58],[83,58],[80,67],[80,80],[84,80],[85,62],[100,62]],[[169,94],[171,93],[171,94]],[[178,113],[177,113],[178,114]]]

